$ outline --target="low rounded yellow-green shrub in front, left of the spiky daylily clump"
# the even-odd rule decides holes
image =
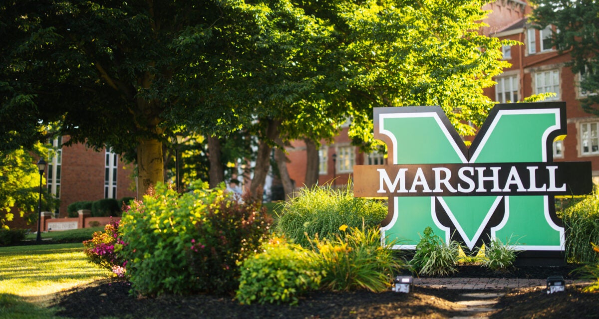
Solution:
[[[241,262],[236,298],[241,303],[296,304],[298,296],[317,290],[324,271],[317,271],[311,251],[289,244],[285,238],[271,238],[261,253]]]

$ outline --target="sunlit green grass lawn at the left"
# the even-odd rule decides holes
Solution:
[[[0,318],[53,318],[53,294],[109,275],[82,244],[0,247]]]

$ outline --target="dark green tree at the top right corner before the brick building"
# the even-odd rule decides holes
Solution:
[[[583,110],[599,115],[599,5],[597,1],[535,0],[531,21],[536,28],[555,26],[552,45],[569,53],[574,74],[580,74],[580,90],[586,97]]]

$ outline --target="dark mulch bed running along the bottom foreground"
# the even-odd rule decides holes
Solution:
[[[558,274],[571,279],[566,271],[573,268],[521,267],[489,274],[480,266],[461,266],[453,277],[547,278]],[[69,318],[451,318],[465,315],[464,307],[456,302],[471,292],[418,286],[407,294],[314,291],[291,306],[240,305],[231,296],[210,294],[138,297],[130,290],[126,281],[104,279],[59,293],[55,306],[59,316]],[[490,318],[599,318],[599,294],[574,287],[553,294],[539,288],[501,292],[507,294],[495,311],[485,314]]]

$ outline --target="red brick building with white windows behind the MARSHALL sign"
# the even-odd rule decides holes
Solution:
[[[553,144],[555,160],[585,160],[592,162],[595,183],[599,179],[599,119],[585,113],[579,99],[587,94],[581,92],[577,83],[580,74],[573,74],[565,65],[571,59],[568,53],[559,54],[549,46],[551,28],[534,29],[527,21],[532,8],[526,1],[498,0],[483,7],[491,10],[481,29],[485,35],[500,39],[518,40],[522,45],[504,47],[504,59],[512,63],[503,74],[495,78],[497,85],[485,90],[485,95],[497,102],[522,101],[527,96],[554,92],[547,101],[565,101],[567,105],[568,135]],[[294,141],[288,147],[289,175],[295,185],[301,187],[305,180],[305,144]],[[350,145],[347,127],[341,130],[335,142],[323,145],[319,150],[319,184],[330,182],[346,184],[353,172],[353,165],[382,164],[382,154],[363,154]],[[334,156],[336,157],[334,160]]]

